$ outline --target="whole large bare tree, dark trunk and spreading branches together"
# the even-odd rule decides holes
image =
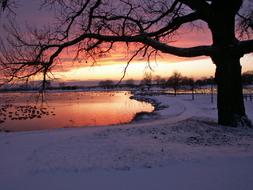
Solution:
[[[46,80],[66,48],[75,47],[75,58],[87,60],[110,52],[118,42],[134,43],[129,61],[139,54],[149,59],[157,52],[209,56],[216,65],[219,124],[251,126],[245,114],[240,65],[240,58],[253,52],[250,4],[246,0],[44,0],[43,6],[55,9],[58,25],[22,34],[11,23],[8,44],[1,47],[1,67],[9,80],[38,73]],[[198,20],[207,23],[212,45],[170,45],[182,25]],[[248,34],[248,40],[236,37],[239,24],[241,36]]]

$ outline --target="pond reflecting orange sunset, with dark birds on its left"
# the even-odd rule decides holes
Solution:
[[[120,92],[0,93],[0,131],[87,127],[131,122],[154,107]]]

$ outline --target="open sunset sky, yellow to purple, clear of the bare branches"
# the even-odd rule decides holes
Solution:
[[[18,22],[37,26],[52,23],[52,14],[48,14],[46,10],[40,10],[39,2],[39,0],[19,1],[16,9]],[[3,23],[3,21],[1,22]],[[211,44],[207,26],[203,23],[200,23],[200,25],[200,29],[183,27],[172,44],[181,47]],[[62,80],[119,80],[123,75],[123,70],[131,54],[124,47],[118,46],[116,49],[107,57],[98,59],[95,66],[91,66],[92,63],[90,62],[82,64],[73,63],[71,61],[71,54],[64,54],[62,55],[62,64],[55,69],[54,76]],[[245,55],[241,63],[243,71],[253,70],[252,54]],[[161,56],[157,57],[157,61],[150,62],[150,66],[153,69],[153,76],[160,75],[162,77],[168,77],[174,71],[194,78],[210,77],[215,72],[215,65],[208,57],[186,59],[161,54]],[[151,71],[147,60],[141,58],[133,60],[128,67],[126,79],[141,79],[145,71]]]

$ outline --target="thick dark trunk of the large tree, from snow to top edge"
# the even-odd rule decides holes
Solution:
[[[218,85],[218,123],[228,126],[251,126],[244,108],[240,52],[231,54],[228,47],[237,43],[235,37],[235,15],[241,0],[227,2],[216,0],[212,4],[214,14],[208,24],[212,32],[213,45],[219,49],[212,60],[216,65],[215,80]],[[225,11],[226,10],[226,11]]]

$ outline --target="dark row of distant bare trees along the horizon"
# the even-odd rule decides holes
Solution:
[[[242,83],[243,85],[253,85],[253,71],[247,71],[242,74]],[[181,88],[187,88],[188,90],[194,90],[196,88],[200,88],[203,86],[213,86],[215,85],[215,80],[213,77],[209,78],[201,78],[194,79],[192,77],[183,76],[180,72],[173,72],[171,76],[168,78],[161,77],[159,75],[153,76],[152,72],[145,72],[143,78],[140,81],[134,79],[127,79],[118,84],[118,81],[113,80],[103,80],[98,83],[99,87],[105,89],[112,89],[115,87],[127,87],[127,88],[151,88],[151,87],[159,87],[159,88],[171,88],[174,91],[174,95],[177,95],[177,92]],[[58,87],[53,87],[51,81],[47,81],[46,89],[47,90],[75,90],[81,88],[79,86],[68,85],[65,82],[60,82]],[[94,86],[95,88],[95,86]],[[8,88],[9,89],[9,88]],[[38,87],[30,86],[27,84],[19,85],[16,87],[12,87],[9,90],[37,90]],[[0,89],[0,91],[6,90],[5,88]]]

